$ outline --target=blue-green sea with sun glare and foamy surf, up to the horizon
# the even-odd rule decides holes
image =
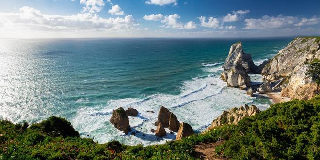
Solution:
[[[163,143],[175,135],[159,138],[150,131],[156,129],[161,105],[196,131],[229,108],[245,103],[268,108],[269,99],[227,87],[219,79],[221,66],[237,41],[258,64],[292,39],[2,39],[0,119],[35,123],[61,116],[81,136],[101,143]],[[139,111],[130,117],[136,136],[124,135],[109,122],[118,107]]]

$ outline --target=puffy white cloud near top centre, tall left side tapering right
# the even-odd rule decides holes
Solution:
[[[165,23],[165,25],[160,27],[166,27],[166,28],[173,28],[173,29],[195,29],[196,24],[192,21],[188,22],[187,24],[183,24],[178,21],[180,18],[180,15],[173,14],[169,16],[165,16],[163,20],[161,20],[161,23]]]

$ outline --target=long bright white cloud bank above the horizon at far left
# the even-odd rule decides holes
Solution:
[[[1,13],[1,29],[38,30],[38,31],[127,31],[136,24],[132,15],[124,18],[101,18],[92,13],[76,15],[45,15],[32,7],[22,7],[19,13]]]

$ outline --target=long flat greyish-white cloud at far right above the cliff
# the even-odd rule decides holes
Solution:
[[[245,19],[246,27],[244,29],[283,29],[292,26],[314,25],[318,24],[320,18],[298,18],[294,16],[262,16],[259,19]]]

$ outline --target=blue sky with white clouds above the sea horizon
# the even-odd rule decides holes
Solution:
[[[0,0],[0,38],[320,35],[320,0]]]

